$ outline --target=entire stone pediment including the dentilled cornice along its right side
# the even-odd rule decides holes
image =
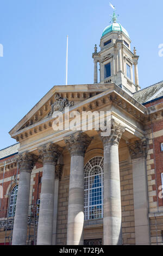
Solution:
[[[9,132],[18,142],[45,132],[52,132],[53,111],[98,111],[114,105],[143,122],[146,108],[114,83],[52,88],[32,110]]]

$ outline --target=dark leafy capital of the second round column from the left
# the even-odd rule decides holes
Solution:
[[[54,165],[57,164],[58,158],[62,151],[57,144],[53,144],[51,142],[42,145],[38,148],[38,150],[43,163],[53,163]]]

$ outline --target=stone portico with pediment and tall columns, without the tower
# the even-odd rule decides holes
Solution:
[[[51,106],[61,107],[65,116],[66,105],[70,113],[109,111],[110,135],[101,137],[95,129],[54,131]],[[91,237],[102,239],[104,245],[122,245],[127,236],[137,244],[148,245],[148,141],[143,129],[147,116],[146,108],[115,84],[54,87],[10,132],[20,142],[21,167],[12,244],[26,244],[30,175],[39,161],[43,168],[38,245],[83,245],[84,239]],[[104,157],[103,218],[84,220],[84,166],[96,156]],[[127,176],[131,184],[125,180]],[[126,195],[125,186],[130,188]],[[135,223],[133,227],[124,227],[127,217],[130,225]]]

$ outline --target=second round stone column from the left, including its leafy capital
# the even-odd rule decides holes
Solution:
[[[60,156],[60,151],[58,145],[52,143],[39,148],[40,157],[43,161],[43,174],[37,245],[52,245],[55,165]]]

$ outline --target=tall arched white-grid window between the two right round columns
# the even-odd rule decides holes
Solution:
[[[103,165],[102,156],[93,157],[84,167],[84,219],[103,217]]]

